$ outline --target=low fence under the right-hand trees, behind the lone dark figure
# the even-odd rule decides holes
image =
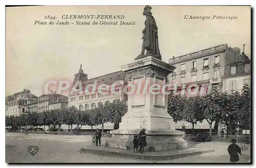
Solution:
[[[194,134],[186,134],[184,135],[184,139],[187,141],[201,141],[205,142],[208,141],[209,135],[203,136],[202,138],[197,138],[196,135]],[[236,139],[237,143],[250,143],[250,135],[212,135],[211,136],[211,141],[219,141],[219,142],[230,142],[232,139]]]

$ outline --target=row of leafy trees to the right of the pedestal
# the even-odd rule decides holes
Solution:
[[[168,113],[175,122],[186,121],[195,124],[205,119],[211,126],[213,122],[225,124],[229,129],[236,130],[250,122],[250,87],[245,84],[242,93],[220,92],[217,87],[202,96],[187,97],[186,95],[170,94],[168,98]]]

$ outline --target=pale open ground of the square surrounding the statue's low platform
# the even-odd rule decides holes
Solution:
[[[108,137],[102,137],[102,141]],[[8,163],[134,163],[134,162],[159,162],[159,163],[195,163],[195,162],[229,162],[227,147],[230,143],[225,142],[203,142],[189,143],[189,147],[215,150],[215,152],[201,155],[188,156],[166,161],[146,161],[121,157],[111,157],[103,155],[93,155],[80,153],[80,148],[91,144],[91,136],[71,136],[71,135],[41,135],[41,134],[21,134],[6,133],[6,162]],[[238,143],[238,145],[244,145]],[[32,156],[28,152],[29,146],[38,146],[38,152]],[[239,162],[247,162],[250,159],[250,146],[247,151],[242,152]]]

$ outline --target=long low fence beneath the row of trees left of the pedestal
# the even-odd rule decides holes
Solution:
[[[26,133],[25,131],[15,131],[16,133]],[[28,134],[48,134],[48,135],[91,135],[95,134],[95,131],[28,131]],[[111,133],[103,132],[102,136],[111,137]]]

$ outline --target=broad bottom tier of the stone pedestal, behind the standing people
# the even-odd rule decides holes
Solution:
[[[138,135],[140,130],[113,130],[111,131],[112,137],[105,143],[105,147],[126,149],[129,146],[133,150],[134,135]],[[147,146],[145,151],[170,151],[187,148],[187,141],[182,137],[184,132],[176,130],[149,130],[147,133]]]

